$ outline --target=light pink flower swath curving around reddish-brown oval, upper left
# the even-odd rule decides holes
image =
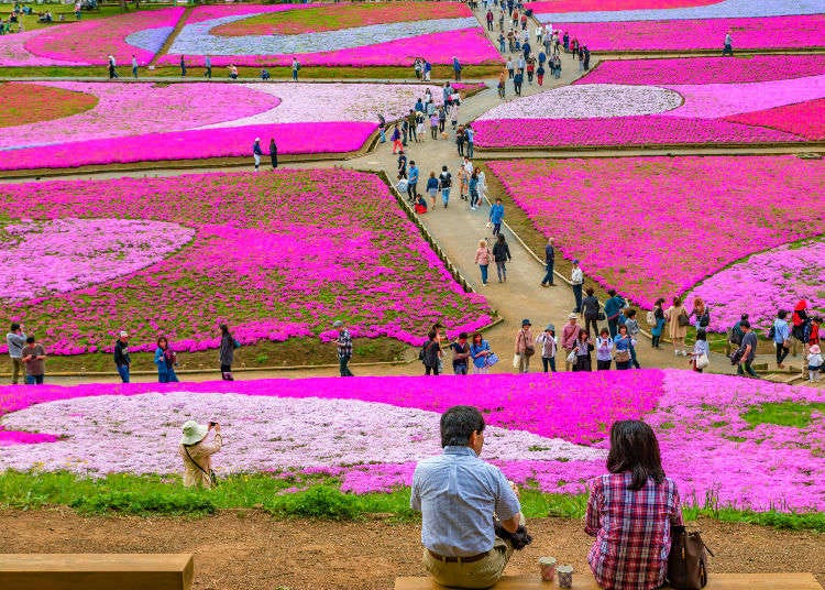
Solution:
[[[94,109],[72,117],[6,128],[0,135],[0,149],[185,131],[265,112],[280,102],[276,96],[257,91],[253,85],[40,81],[28,86],[32,92],[36,92],[40,86],[51,86],[92,95],[99,100]],[[182,117],[182,112],[186,112],[186,117]],[[152,116],[147,117],[147,113]],[[157,145],[147,148],[156,149]],[[37,151],[48,157],[48,150],[51,148]],[[77,156],[88,159],[91,155],[87,150],[82,151],[85,153]],[[118,151],[113,150],[112,155]],[[16,152],[0,154],[6,161],[0,167],[6,167],[13,164]],[[57,167],[73,165],[77,156]]]

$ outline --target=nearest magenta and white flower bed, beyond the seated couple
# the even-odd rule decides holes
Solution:
[[[814,412],[804,428],[751,427],[743,418],[759,404],[822,403],[825,394],[676,370],[442,376],[426,387],[424,378],[7,387],[0,469],[176,472],[172,408],[180,423],[217,411],[231,440],[216,461],[219,472],[329,473],[346,491],[389,491],[409,485],[416,461],[440,452],[438,413],[466,403],[468,380],[490,425],[484,457],[521,484],[582,492],[586,479],[604,472],[609,425],[644,417],[688,504],[715,498],[721,506],[760,511],[825,510],[825,463],[816,457],[825,417]],[[103,444],[114,418],[140,433],[124,437],[117,452]],[[123,451],[132,446],[134,452]]]

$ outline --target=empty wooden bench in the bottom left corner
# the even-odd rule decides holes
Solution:
[[[189,590],[188,554],[0,554],[3,590]]]

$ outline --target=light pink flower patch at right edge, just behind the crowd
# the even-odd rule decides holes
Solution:
[[[778,309],[793,309],[800,299],[812,309],[825,309],[825,241],[820,238],[783,245],[739,262],[711,276],[688,296],[711,305],[711,329],[724,332],[739,320],[744,309],[750,323],[766,331]]]

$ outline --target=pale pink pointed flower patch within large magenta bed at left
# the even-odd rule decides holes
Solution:
[[[0,228],[0,264],[23,264],[25,272],[0,275],[0,301],[66,293],[131,274],[160,262],[194,236],[194,230],[177,223],[139,219],[7,225]]]

